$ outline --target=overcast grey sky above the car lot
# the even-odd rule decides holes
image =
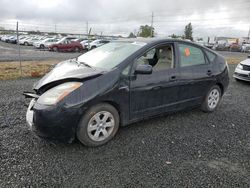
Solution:
[[[151,24],[156,33],[182,34],[189,22],[194,36],[247,36],[249,0],[0,0],[0,26],[103,35],[137,32]]]

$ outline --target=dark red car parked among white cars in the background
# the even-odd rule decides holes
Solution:
[[[50,51],[54,52],[81,52],[84,50],[80,42],[71,41],[68,38],[63,38],[55,44],[49,46]]]

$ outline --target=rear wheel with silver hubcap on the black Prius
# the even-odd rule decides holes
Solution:
[[[209,89],[206,97],[201,105],[201,110],[203,112],[213,112],[215,111],[221,100],[221,89],[218,85],[214,85]]]

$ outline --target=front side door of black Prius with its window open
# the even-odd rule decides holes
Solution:
[[[178,102],[178,70],[172,43],[156,46],[135,60],[153,67],[152,74],[135,74],[130,80],[130,119],[140,119],[172,110]]]

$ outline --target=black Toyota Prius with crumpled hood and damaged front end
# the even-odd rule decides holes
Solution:
[[[42,138],[86,146],[112,139],[119,126],[200,107],[213,112],[229,84],[219,54],[174,39],[110,42],[57,64],[34,84],[26,119]]]

